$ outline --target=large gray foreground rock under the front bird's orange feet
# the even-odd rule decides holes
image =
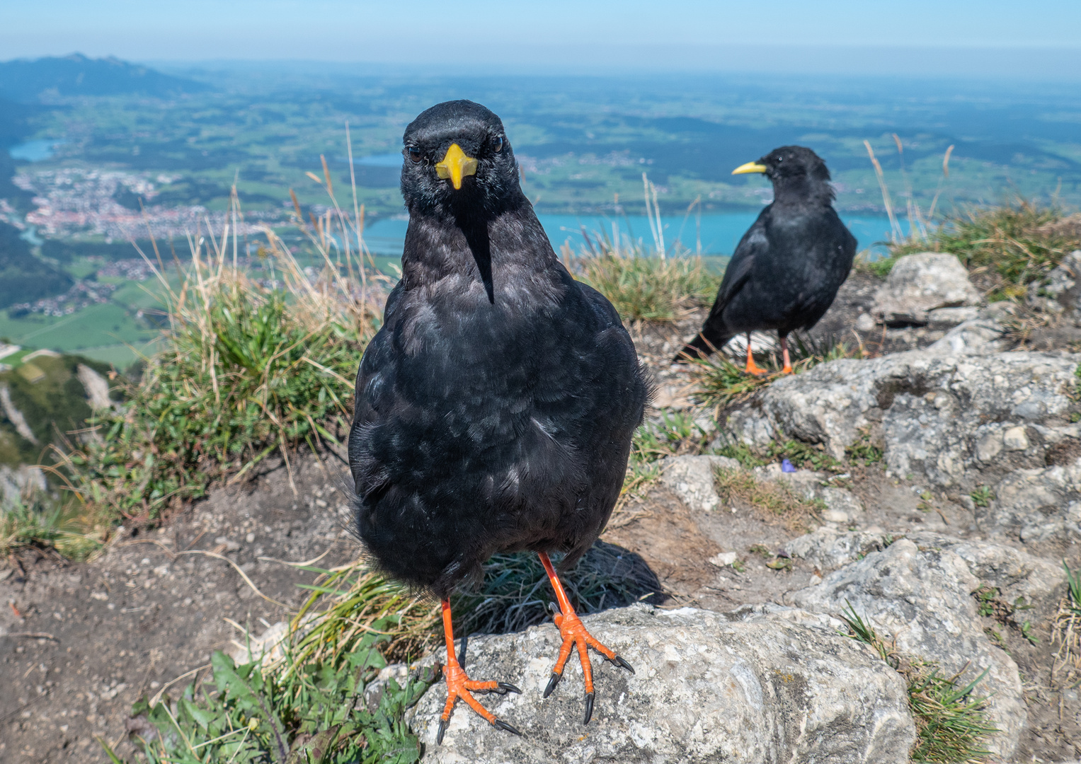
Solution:
[[[725,616],[644,605],[583,620],[635,674],[593,659],[597,702],[583,726],[577,659],[542,698],[559,652],[555,627],[469,640],[470,676],[512,682],[521,695],[482,702],[519,727],[497,731],[458,703],[435,745],[442,684],[406,718],[425,761],[907,762],[915,740],[904,681],[828,620],[771,608]]]

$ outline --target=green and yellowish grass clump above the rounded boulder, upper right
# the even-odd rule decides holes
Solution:
[[[988,299],[1017,299],[1029,282],[1042,279],[1065,254],[1081,247],[1076,226],[1057,225],[1064,217],[1058,207],[1024,199],[972,207],[947,217],[926,241],[910,239],[891,246],[891,255],[952,253],[970,271],[989,277]]]

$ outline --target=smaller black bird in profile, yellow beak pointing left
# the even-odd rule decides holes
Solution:
[[[789,374],[788,333],[809,330],[833,304],[849,278],[856,239],[833,210],[826,163],[803,146],[782,146],[732,171],[765,173],[773,203],[744,233],[724,271],[709,317],[676,362],[703,358],[737,334],[747,334],[747,373],[762,374],[750,333],[776,330]]]

